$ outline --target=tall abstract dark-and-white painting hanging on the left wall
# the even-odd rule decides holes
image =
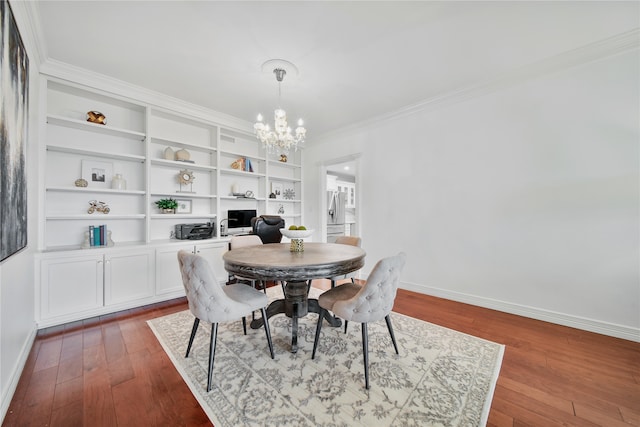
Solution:
[[[29,58],[9,2],[0,1],[0,261],[27,246]]]

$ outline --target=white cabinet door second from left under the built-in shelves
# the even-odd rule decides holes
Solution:
[[[105,255],[105,305],[153,296],[154,273],[153,250]]]

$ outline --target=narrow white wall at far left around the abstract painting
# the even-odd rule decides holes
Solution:
[[[29,56],[29,136],[27,142],[27,247],[0,263],[0,420],[4,418],[36,333],[33,255],[38,211],[38,57],[25,26],[24,4],[11,2]]]

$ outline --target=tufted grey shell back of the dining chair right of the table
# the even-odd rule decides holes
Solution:
[[[384,319],[393,308],[405,260],[406,255],[400,252],[378,261],[356,295],[333,305],[336,316],[360,323]]]

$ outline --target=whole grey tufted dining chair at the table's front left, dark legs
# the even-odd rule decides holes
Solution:
[[[216,276],[209,263],[200,255],[187,251],[178,252],[178,263],[182,273],[182,283],[187,294],[189,310],[195,316],[191,337],[187,346],[187,353],[184,357],[189,357],[193,339],[196,336],[198,325],[201,320],[211,323],[211,341],[209,344],[209,369],[207,373],[207,392],[211,391],[213,379],[213,362],[216,354],[216,340],[218,336],[218,323],[228,322],[242,318],[244,333],[246,335],[245,316],[253,313],[254,310],[262,312],[264,320],[264,331],[267,335],[269,352],[273,359],[273,344],[271,342],[271,332],[269,331],[269,319],[267,318],[266,306],[267,296],[247,285],[237,283],[228,286],[221,286],[216,280]]]

